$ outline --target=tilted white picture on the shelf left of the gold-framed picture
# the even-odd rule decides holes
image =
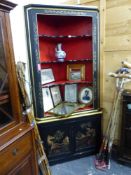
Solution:
[[[46,84],[55,81],[51,68],[41,70],[41,83]]]

